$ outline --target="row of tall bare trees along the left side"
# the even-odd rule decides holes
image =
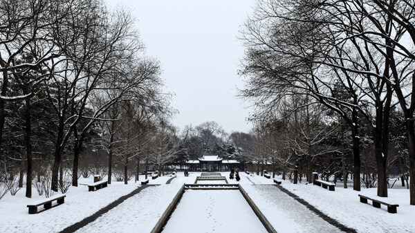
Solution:
[[[77,186],[85,142],[102,138],[110,151],[114,143],[139,147],[137,138],[167,118],[158,61],[143,53],[133,20],[101,0],[1,1],[1,180],[19,167],[22,186],[26,170],[31,197],[34,168],[53,160],[57,192],[62,162],[71,160]],[[122,141],[113,141],[116,133]],[[118,153],[128,159],[132,152]]]

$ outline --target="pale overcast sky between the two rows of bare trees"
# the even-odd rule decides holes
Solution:
[[[228,133],[250,130],[250,109],[237,97],[237,36],[255,0],[107,1],[131,8],[147,55],[160,60],[165,89],[175,93],[176,127],[215,121]]]

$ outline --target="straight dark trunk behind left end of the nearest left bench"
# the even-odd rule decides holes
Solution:
[[[26,174],[26,197],[32,197],[32,175],[33,175],[33,160],[32,160],[32,123],[31,123],[31,107],[30,98],[26,98],[26,122],[25,122],[25,142],[26,142],[26,158],[28,158],[28,170]]]

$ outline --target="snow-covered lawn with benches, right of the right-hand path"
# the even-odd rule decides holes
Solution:
[[[282,183],[282,187],[358,232],[415,232],[415,206],[409,205],[408,189],[388,189],[385,200],[399,205],[398,213],[390,214],[385,205],[378,209],[371,201],[360,203],[358,194],[376,196],[376,188],[357,192],[353,187],[344,189],[342,184],[338,185],[335,192],[330,192],[317,185],[293,185],[284,180]]]

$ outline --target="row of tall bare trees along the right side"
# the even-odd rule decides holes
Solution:
[[[378,196],[387,196],[390,145],[399,142],[404,146],[394,149],[406,150],[415,205],[414,6],[397,0],[257,1],[241,32],[247,48],[241,94],[255,102],[260,129],[293,129],[295,135],[283,140],[292,145],[283,147],[291,149],[284,154],[304,160],[308,178],[311,161],[344,153],[339,144],[319,147],[339,128],[353,153],[353,189],[360,190],[362,169],[374,166]],[[398,122],[391,139],[391,124]],[[373,140],[374,158],[363,161],[365,136]]]

